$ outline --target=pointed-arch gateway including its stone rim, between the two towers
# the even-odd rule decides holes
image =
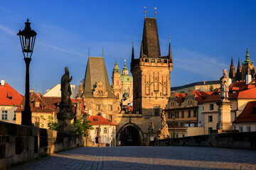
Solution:
[[[134,123],[127,123],[117,132],[117,144],[121,146],[141,146],[143,140],[142,130]]]

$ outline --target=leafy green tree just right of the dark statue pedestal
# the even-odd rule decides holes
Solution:
[[[75,120],[72,125],[75,127],[75,133],[82,136],[87,136],[89,130],[93,130],[92,125],[90,125],[91,121],[86,120],[83,116],[82,118]]]

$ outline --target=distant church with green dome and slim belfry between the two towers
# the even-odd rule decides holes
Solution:
[[[114,69],[112,72],[112,89],[114,94],[120,99],[126,99],[132,96],[133,93],[133,79],[129,75],[128,68],[126,66],[126,60],[124,60],[124,68],[122,74],[116,62],[114,63]],[[127,96],[128,94],[128,96]]]

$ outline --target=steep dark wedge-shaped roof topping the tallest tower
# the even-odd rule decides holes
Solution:
[[[149,58],[159,58],[160,45],[156,18],[145,18],[143,30],[143,54]]]

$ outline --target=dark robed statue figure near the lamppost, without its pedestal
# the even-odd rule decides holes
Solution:
[[[70,96],[71,96],[71,87],[70,81],[73,77],[69,77],[69,70],[68,67],[65,67],[65,74],[61,77],[61,103],[71,103]]]

